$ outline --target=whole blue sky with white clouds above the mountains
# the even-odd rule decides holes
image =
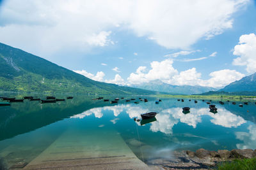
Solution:
[[[249,0],[10,0],[0,8],[1,43],[119,85],[223,87],[255,73],[255,34]]]

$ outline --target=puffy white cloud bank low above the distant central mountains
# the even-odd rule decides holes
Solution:
[[[173,60],[167,59],[161,62],[153,61],[150,66],[151,69],[147,71],[147,67],[140,66],[136,73],[131,73],[127,78],[128,84],[140,84],[152,80],[161,80],[164,83],[172,85],[201,85],[205,87],[223,87],[232,83],[233,81],[240,80],[244,74],[236,70],[222,69],[214,71],[209,74],[211,78],[208,80],[201,79],[201,73],[196,71],[193,67],[180,73],[172,66]]]

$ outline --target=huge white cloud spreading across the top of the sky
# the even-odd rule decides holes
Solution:
[[[166,48],[184,49],[200,38],[211,38],[231,28],[232,14],[247,3],[10,0],[1,6],[0,37],[3,43],[44,56],[113,44],[111,30],[124,27]]]

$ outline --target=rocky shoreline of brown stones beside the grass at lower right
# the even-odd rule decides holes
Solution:
[[[161,169],[211,169],[221,162],[234,159],[251,159],[256,157],[256,149],[234,149],[210,151],[200,148],[196,152],[190,150],[173,152],[173,159],[154,159],[147,162],[150,166]]]

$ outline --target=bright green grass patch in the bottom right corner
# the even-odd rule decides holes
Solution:
[[[218,170],[251,170],[256,169],[256,157],[252,159],[236,159],[232,162],[221,163]]]

